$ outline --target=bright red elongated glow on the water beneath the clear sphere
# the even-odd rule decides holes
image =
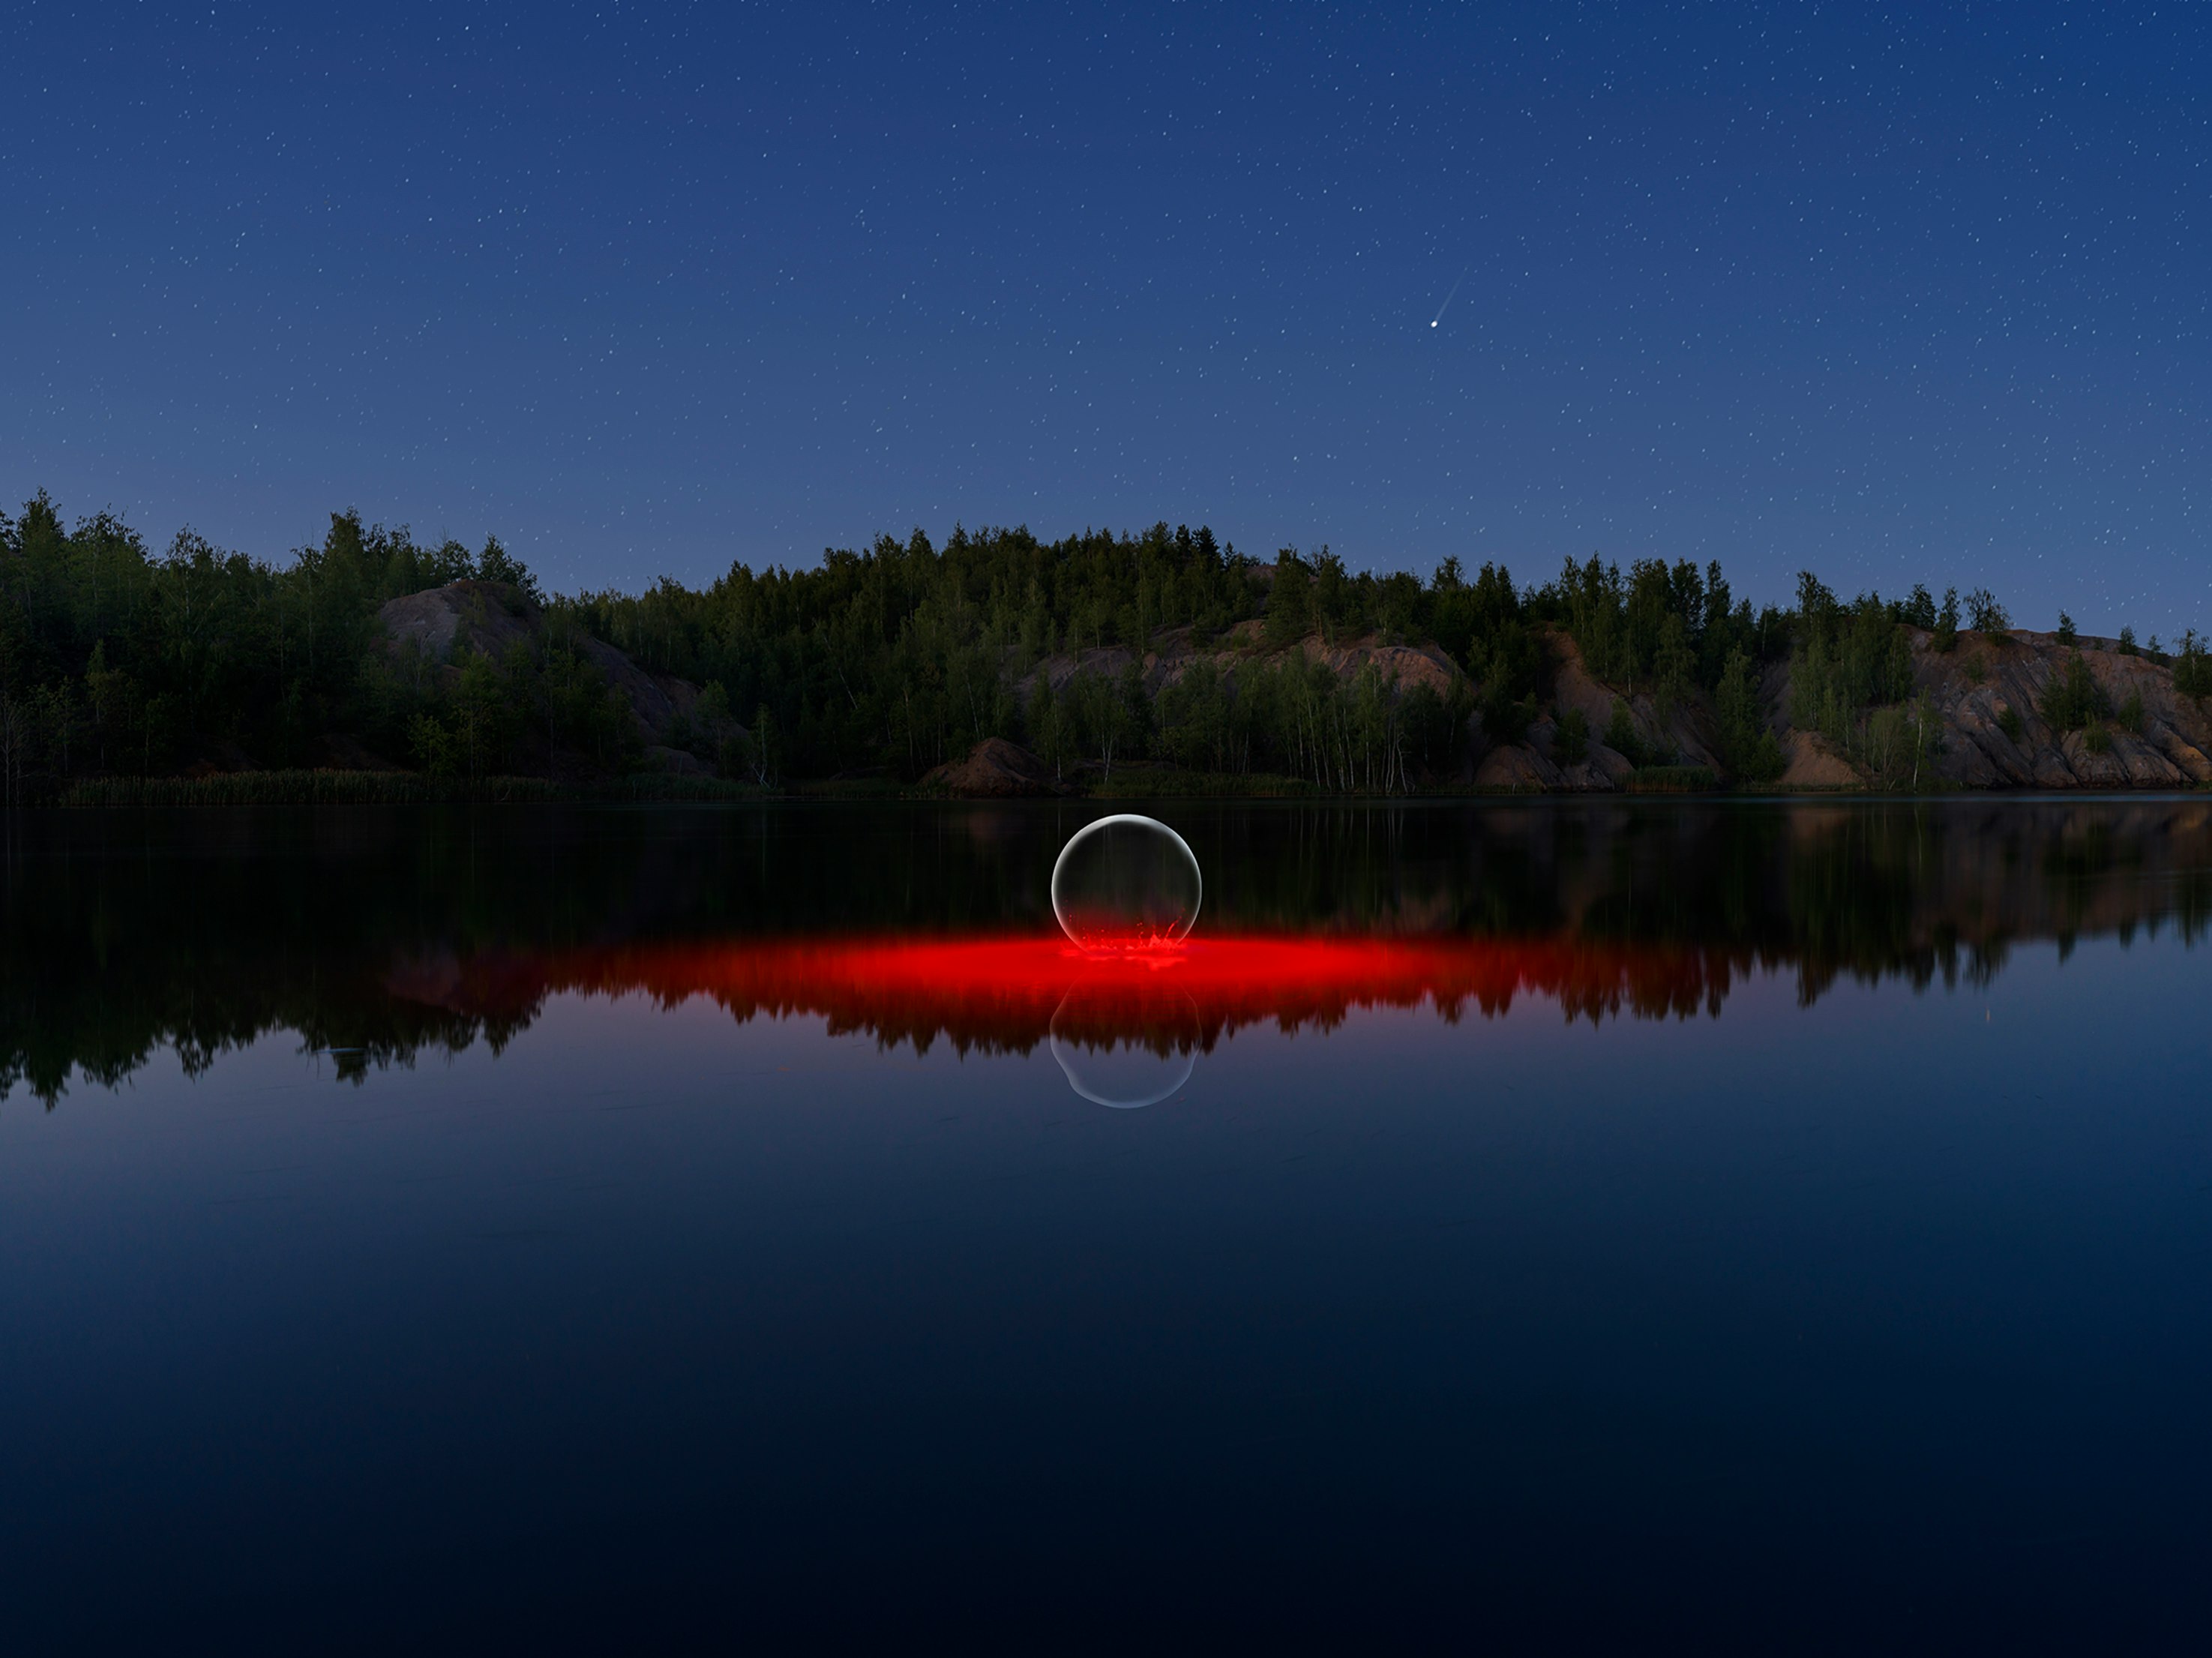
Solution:
[[[821,1016],[885,1043],[1026,1049],[1046,1034],[1088,1043],[1212,1047],[1252,1023],[1332,1027],[1358,1007],[1506,1012],[1548,996],[1568,1016],[1717,1012],[1752,961],[1688,945],[1571,936],[1440,934],[1201,936],[1121,954],[1060,936],[785,939],[639,943],[420,963],[392,987],[460,1012],[522,1012],[557,989],[710,996],[739,1018]]]

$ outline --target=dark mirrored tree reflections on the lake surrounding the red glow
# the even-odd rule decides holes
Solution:
[[[341,1076],[504,1045],[551,958],[856,932],[1044,932],[1051,861],[1106,806],[345,808],[29,815],[0,830],[0,1087],[49,1102],[155,1049],[199,1074],[270,1029]],[[1759,804],[1161,804],[1206,868],[1208,930],[1449,936],[1590,952],[1533,989],[1571,1016],[1717,1012],[1750,972],[1986,983],[2031,939],[2212,919],[2197,799]],[[504,967],[502,967],[504,963]],[[440,994],[438,974],[498,996]],[[411,974],[411,976],[409,976]],[[1358,1001],[1287,1001],[1329,1025]],[[732,1007],[737,1012],[737,1007]],[[768,1003],[754,1012],[774,1012]],[[956,1032],[858,1003],[885,1040]],[[987,1027],[989,1020],[982,1023]],[[995,1038],[993,1038],[995,1040]]]

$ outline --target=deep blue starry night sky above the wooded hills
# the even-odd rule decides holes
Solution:
[[[2212,622],[2212,7],[7,35],[0,491],[155,540],[276,556],[356,505],[571,589],[1166,518]]]

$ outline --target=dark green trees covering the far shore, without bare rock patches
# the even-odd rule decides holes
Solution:
[[[518,618],[504,649],[427,660],[387,638],[387,602],[453,584]],[[661,578],[549,595],[498,540],[431,547],[354,511],[270,562],[190,529],[155,553],[115,516],[71,527],[38,494],[0,514],[0,773],[9,801],[77,779],[279,768],[582,786],[668,755],[761,788],[911,784],[1009,737],[1073,777],[1148,761],[1407,792],[1464,781],[1480,748],[1551,713],[1564,635],[1606,686],[1661,711],[1701,700],[1728,779],[1756,784],[1781,773],[1774,715],[1851,753],[1927,722],[1905,626],[1949,649],[2011,618],[1986,591],[1843,600],[1812,573],[1787,609],[1754,609],[1717,562],[1621,569],[1595,553],[1537,584],[1455,558],[1427,578],[1352,571],[1327,547],[1261,560],[1168,525],[1053,542],[956,527],[942,547],[916,529],[803,569],[737,562],[703,589]],[[1371,660],[1340,673],[1287,649],[1310,640],[1433,644],[1453,671],[1442,688]],[[595,642],[699,695],[641,728]],[[1150,688],[1139,657],[1170,646],[1197,655]],[[2121,649],[2172,662],[2177,688],[2212,691],[2194,633],[2172,653],[2132,633]],[[1790,666],[1785,708],[1770,706],[1776,664]],[[1615,715],[1606,730],[1564,715],[1557,744],[1571,759],[1599,739],[1637,764],[1674,759],[1648,750],[1624,704]]]

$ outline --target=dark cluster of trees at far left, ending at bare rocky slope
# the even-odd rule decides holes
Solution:
[[[531,571],[495,538],[471,551],[334,514],[283,564],[190,529],[153,553],[131,525],[64,527],[33,496],[0,514],[0,775],[7,799],[73,777],[168,775],[201,764],[290,768],[372,753],[438,770],[456,750],[487,770],[544,770],[582,750],[630,759],[628,715],[557,611],[502,660],[429,664],[385,646],[378,609],[478,582],[538,609]],[[462,761],[465,764],[465,761]]]

